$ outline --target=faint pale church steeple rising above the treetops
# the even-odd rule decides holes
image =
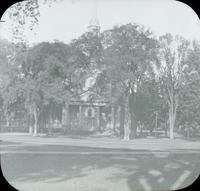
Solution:
[[[90,32],[99,34],[100,32],[100,24],[99,19],[97,16],[97,3],[96,0],[93,0],[93,6],[92,6],[92,18],[90,19],[88,30]]]

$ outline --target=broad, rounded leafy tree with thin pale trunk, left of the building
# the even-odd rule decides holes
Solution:
[[[55,102],[65,104],[76,93],[73,77],[79,68],[71,48],[64,43],[41,43],[18,57],[21,93],[29,114],[34,117],[34,134],[45,106]],[[78,86],[78,85],[77,85]]]

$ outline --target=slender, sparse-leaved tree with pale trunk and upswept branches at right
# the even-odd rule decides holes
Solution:
[[[160,42],[160,80],[163,93],[168,104],[169,135],[174,138],[179,95],[183,85],[183,71],[186,63],[189,42],[180,36],[166,34],[159,38]]]

